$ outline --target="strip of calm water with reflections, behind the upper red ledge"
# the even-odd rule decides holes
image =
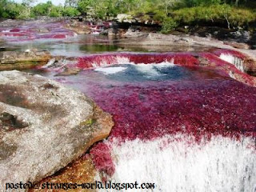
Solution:
[[[65,39],[39,39],[27,42],[0,42],[0,51],[4,50],[48,50],[55,56],[79,57],[90,53],[132,51],[132,52],[166,52],[183,50],[202,50],[198,47],[179,46],[127,46],[127,41],[136,39],[110,38],[103,35],[81,34]]]

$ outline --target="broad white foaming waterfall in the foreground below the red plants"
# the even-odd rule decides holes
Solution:
[[[113,145],[112,156],[116,168],[110,180],[156,184],[154,190],[127,191],[256,190],[256,151],[253,138],[244,138],[238,142],[231,138],[214,137],[206,144],[188,145],[192,138],[178,137],[181,138],[179,141],[166,137],[153,142],[135,140],[121,145],[109,143]]]

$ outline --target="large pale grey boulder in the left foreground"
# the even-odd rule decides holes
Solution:
[[[54,174],[112,126],[110,114],[76,90],[40,75],[0,72],[0,189]]]

